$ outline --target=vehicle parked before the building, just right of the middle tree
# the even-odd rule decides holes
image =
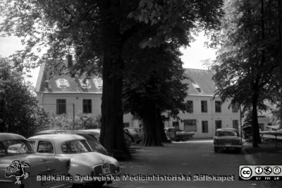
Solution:
[[[171,141],[188,141],[195,134],[194,131],[183,131],[175,127],[166,127],[164,128],[164,132],[166,133],[166,137]]]

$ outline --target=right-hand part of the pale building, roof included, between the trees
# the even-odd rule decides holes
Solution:
[[[213,71],[185,69],[184,83],[189,84],[185,98],[187,112],[180,112],[177,119],[169,119],[166,127],[178,127],[195,131],[195,138],[210,138],[219,128],[235,128],[240,131],[240,108],[231,101],[221,102],[215,94]]]

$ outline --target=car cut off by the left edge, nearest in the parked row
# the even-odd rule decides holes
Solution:
[[[35,153],[23,136],[0,133],[0,187],[72,187],[73,183],[67,180],[70,168],[69,158]],[[51,175],[65,177],[65,180],[41,178]]]

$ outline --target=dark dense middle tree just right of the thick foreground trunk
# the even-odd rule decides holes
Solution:
[[[163,124],[161,113],[168,112],[176,117],[185,110],[184,98],[187,85],[182,83],[183,68],[180,52],[173,45],[161,45],[154,49],[128,49],[132,54],[125,59],[123,79],[123,110],[142,119],[145,130]],[[143,58],[140,58],[143,57]],[[148,105],[151,104],[151,107]],[[154,105],[153,105],[154,104]],[[147,139],[161,145],[156,134],[145,131],[145,146],[152,146]],[[149,136],[152,134],[152,136]],[[153,137],[153,138],[152,138]]]

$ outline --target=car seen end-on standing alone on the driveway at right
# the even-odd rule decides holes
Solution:
[[[214,136],[214,152],[219,149],[233,149],[240,152],[242,149],[242,139],[237,129],[216,129]]]

